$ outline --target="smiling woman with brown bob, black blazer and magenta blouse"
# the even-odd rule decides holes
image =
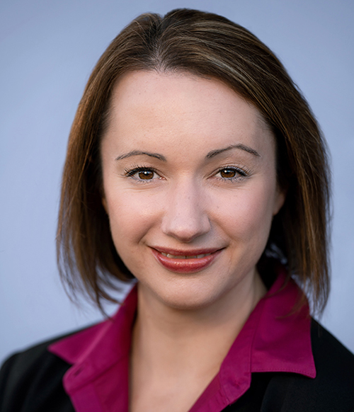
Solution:
[[[112,319],[13,355],[1,411],[353,410],[353,355],[307,303],[329,292],[329,192],[263,43],[200,11],[135,19],[76,113],[57,250],[101,308],[137,285]]]

